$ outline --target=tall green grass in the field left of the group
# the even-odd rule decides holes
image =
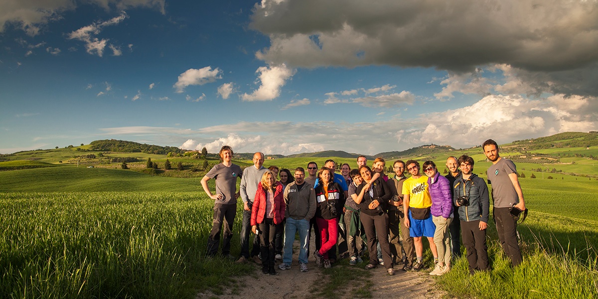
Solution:
[[[204,257],[212,206],[203,193],[0,193],[0,298],[191,298],[223,285],[248,269]]]

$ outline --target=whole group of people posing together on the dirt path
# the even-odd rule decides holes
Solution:
[[[515,164],[501,158],[492,139],[483,144],[492,162],[487,170],[492,184],[493,216],[499,242],[513,266],[521,263],[517,218],[510,210],[525,209]],[[231,227],[237,199],[243,201],[240,232],[241,253],[237,263],[253,259],[264,274],[291,269],[295,234],[299,235],[299,267],[307,271],[310,235],[315,230],[313,257],[318,267],[329,268],[338,258],[349,258],[350,265],[362,262],[367,248],[365,269],[384,266],[393,275],[393,266],[419,271],[423,265],[423,237],[428,238],[434,257],[431,275],[450,271],[451,260],[460,257],[461,238],[470,273],[490,269],[486,228],[490,216],[490,195],[484,179],[473,173],[474,160],[468,155],[446,160],[449,173],[440,175],[434,161],[422,168],[416,160],[396,160],[392,178],[385,173],[385,160],[376,158],[372,167],[367,157],[357,158],[357,168],[327,160],[318,168],[315,162],[294,173],[288,169],[263,166],[264,154],[256,152],[253,166],[241,170],[233,164],[233,150],[224,146],[217,164],[202,179],[203,190],[215,200],[213,227],[207,254],[216,255],[222,234],[222,255],[230,255]],[[405,176],[405,170],[411,175]],[[280,175],[280,180],[277,177]],[[236,180],[240,190],[236,192]],[[215,194],[208,181],[215,180]],[[249,251],[250,232],[256,234]],[[366,246],[367,243],[367,246]]]

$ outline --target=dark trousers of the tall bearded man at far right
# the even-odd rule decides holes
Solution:
[[[517,240],[517,220],[509,212],[509,208],[494,208],[493,212],[502,250],[507,257],[511,258],[513,266],[518,266],[523,261],[523,257]]]

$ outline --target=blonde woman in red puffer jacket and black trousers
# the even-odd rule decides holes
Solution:
[[[282,230],[285,218],[285,200],[282,185],[274,180],[273,173],[264,172],[258,191],[255,193],[254,206],[251,210],[251,230],[260,234],[262,272],[276,275],[274,270],[274,236]],[[259,226],[258,226],[259,225]]]

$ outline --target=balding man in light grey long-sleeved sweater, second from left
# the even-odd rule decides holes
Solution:
[[[243,199],[243,221],[241,222],[241,257],[237,263],[245,263],[249,260],[249,232],[251,231],[251,208],[255,199],[255,193],[258,190],[261,177],[268,169],[262,166],[264,164],[264,154],[256,152],[254,154],[254,166],[246,167],[243,170],[243,177],[239,186],[241,199]],[[260,254],[260,238],[254,237],[254,245],[251,250],[251,256]],[[258,260],[256,260],[258,262]],[[259,261],[261,264],[261,261]]]

